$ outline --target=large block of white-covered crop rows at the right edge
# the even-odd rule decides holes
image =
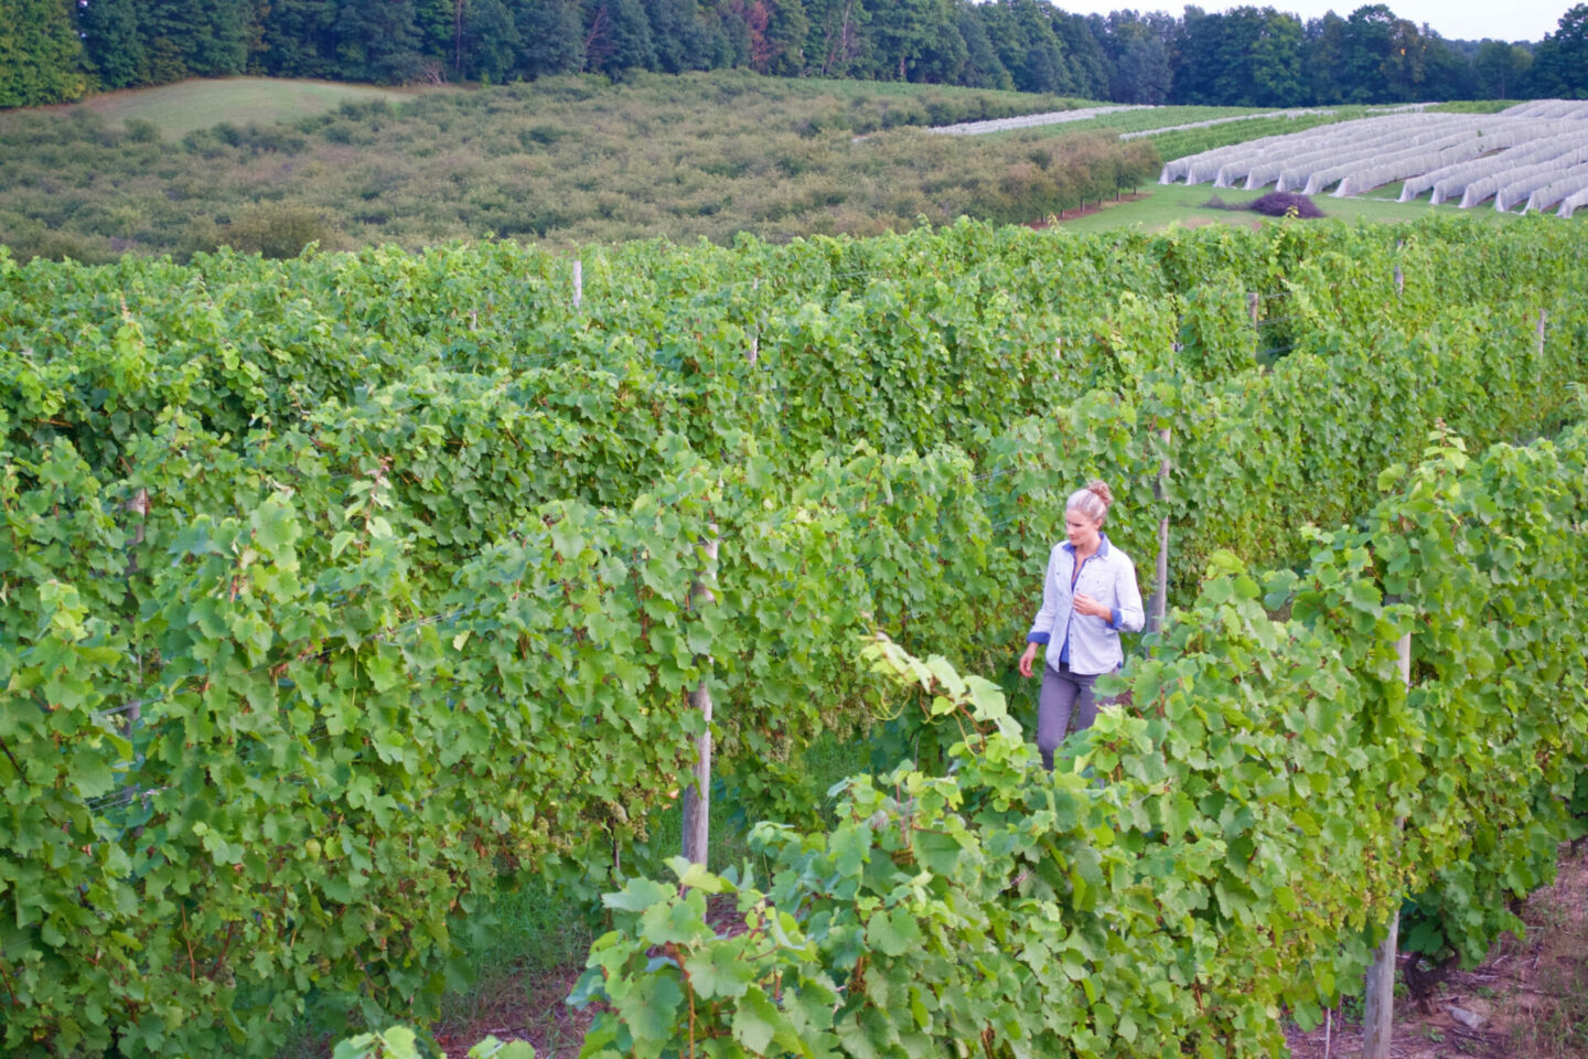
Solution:
[[[1336,197],[1405,181],[1401,200],[1432,192],[1434,203],[1461,195],[1470,208],[1494,198],[1497,210],[1548,210],[1571,216],[1588,170],[1588,100],[1534,100],[1497,114],[1410,113],[1374,116],[1262,137],[1202,151],[1164,167],[1159,183],[1213,181],[1247,189],[1316,195],[1339,183]]]

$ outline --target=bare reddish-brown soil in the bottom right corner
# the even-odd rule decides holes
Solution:
[[[1394,1059],[1588,1059],[1588,849],[1528,899],[1523,940],[1448,972],[1423,1000],[1396,997]],[[1288,1034],[1294,1059],[1355,1059],[1363,1027],[1339,1018]]]

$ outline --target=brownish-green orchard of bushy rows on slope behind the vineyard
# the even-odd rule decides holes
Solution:
[[[84,108],[6,114],[0,137],[17,149],[0,157],[0,241],[21,257],[106,260],[219,243],[294,254],[310,240],[567,246],[1026,221],[1113,194],[1116,176],[1151,179],[1159,159],[1102,135],[1061,149],[916,129],[1080,105],[723,71],[426,92],[287,124],[254,121],[260,103],[237,97],[225,122],[175,144]]]

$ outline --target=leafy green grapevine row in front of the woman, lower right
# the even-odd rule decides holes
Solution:
[[[950,775],[856,776],[831,830],[608,894],[581,1056],[1269,1056],[1404,892],[1482,956],[1588,832],[1588,430],[1434,440],[1302,573],[1218,553],[1056,775],[996,684],[870,648],[918,726],[958,722]]]

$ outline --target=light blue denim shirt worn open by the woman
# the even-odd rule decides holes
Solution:
[[[1110,673],[1124,665],[1120,632],[1140,632],[1147,622],[1142,591],[1135,586],[1135,564],[1108,543],[1107,533],[1100,537],[1097,551],[1081,562],[1073,589],[1070,575],[1075,572],[1075,546],[1069,541],[1054,545],[1048,556],[1048,573],[1042,580],[1042,610],[1026,633],[1027,643],[1048,645],[1048,665],[1059,668],[1064,660],[1070,672],[1081,676]],[[1112,608],[1112,619],[1077,614],[1072,603],[1075,592]]]

